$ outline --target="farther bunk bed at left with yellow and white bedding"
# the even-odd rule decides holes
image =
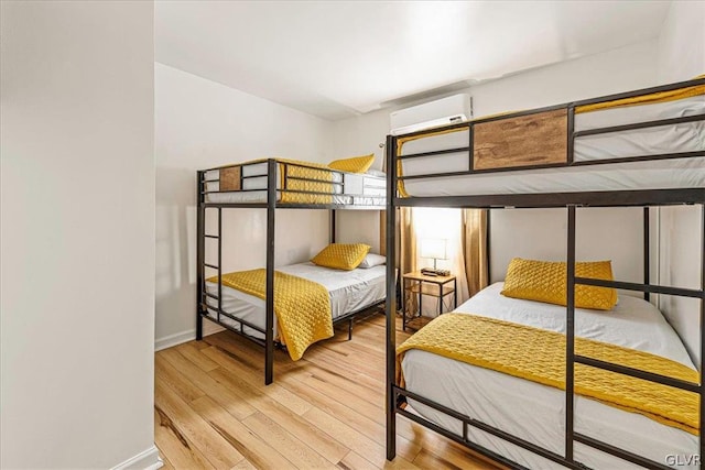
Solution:
[[[307,346],[306,342],[296,343],[294,348],[291,341],[285,345],[286,331],[278,325],[278,308],[283,307],[275,306],[275,284],[281,286],[276,298],[282,305],[299,302],[307,305],[306,309],[289,308],[288,321],[291,330],[306,324],[304,336],[308,335],[306,341],[311,342],[332,336],[333,325],[344,321],[348,323],[350,338],[357,315],[383,306],[386,270],[381,266],[339,271],[299,263],[274,269],[278,209],[329,210],[332,244],[336,241],[337,210],[386,209],[387,179],[383,174],[367,168],[351,170],[265,159],[197,172],[196,339],[203,338],[203,321],[207,319],[262,346],[265,384],[273,381],[275,347],[286,347],[296,360]],[[263,270],[223,272],[223,210],[237,208],[267,210],[267,264]],[[210,229],[215,233],[206,232],[207,211],[216,212],[217,223]],[[206,256],[206,240],[215,243],[216,261]],[[325,315],[322,314],[324,310]]]

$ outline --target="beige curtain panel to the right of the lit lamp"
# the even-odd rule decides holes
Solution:
[[[487,209],[463,210],[465,276],[470,297],[489,284]]]

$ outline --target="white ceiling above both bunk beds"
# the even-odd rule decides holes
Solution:
[[[326,119],[657,37],[670,1],[164,1],[155,59]]]

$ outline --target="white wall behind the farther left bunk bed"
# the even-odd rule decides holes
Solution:
[[[328,163],[332,123],[155,64],[158,348],[195,337],[196,171],[281,156]],[[210,211],[209,211],[210,212]],[[228,209],[224,269],[264,266],[267,211]],[[213,227],[216,216],[208,216]],[[306,261],[328,242],[328,211],[278,210],[275,264]],[[216,263],[215,242],[207,244]],[[207,272],[206,275],[215,275]],[[206,331],[217,330],[206,321]]]

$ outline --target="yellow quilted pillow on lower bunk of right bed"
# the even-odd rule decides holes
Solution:
[[[611,261],[575,263],[576,277],[612,281]],[[567,272],[565,262],[514,258],[507,269],[502,295],[547,304],[566,305]],[[575,286],[575,306],[610,310],[617,304],[617,291],[610,287]]]

